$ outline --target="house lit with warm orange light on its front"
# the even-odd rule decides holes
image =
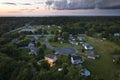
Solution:
[[[53,67],[55,65],[55,61],[57,60],[57,57],[56,55],[48,54],[45,56],[45,60],[48,61],[50,67]]]

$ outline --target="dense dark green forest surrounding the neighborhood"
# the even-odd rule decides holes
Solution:
[[[36,65],[38,58],[24,54],[18,49],[29,40],[19,44],[9,43],[12,39],[25,36],[10,33],[11,30],[29,25],[57,25],[69,34],[87,34],[95,38],[105,38],[120,46],[120,17],[1,17],[0,18],[0,80],[104,80],[79,75],[79,68],[71,65],[70,56],[58,56],[57,66],[50,68],[46,61]],[[39,44],[41,45],[41,44]],[[43,46],[41,45],[43,48]],[[44,48],[45,49],[45,48]],[[45,49],[46,50],[46,49]],[[41,51],[41,50],[40,50]],[[44,51],[43,51],[44,53]],[[41,58],[42,59],[42,58]],[[61,66],[63,72],[57,69]]]

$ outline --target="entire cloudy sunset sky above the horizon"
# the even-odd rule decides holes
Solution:
[[[0,0],[0,16],[120,15],[120,0]]]

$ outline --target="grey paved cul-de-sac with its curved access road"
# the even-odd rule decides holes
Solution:
[[[47,46],[47,48],[51,49],[51,50],[55,50],[56,54],[62,54],[62,55],[75,55],[76,54],[76,49],[74,47],[68,47],[68,48],[56,48],[53,47],[49,44],[48,39],[50,38],[50,35],[46,36],[46,41],[45,44]]]

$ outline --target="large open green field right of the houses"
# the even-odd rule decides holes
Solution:
[[[103,80],[120,80],[120,77],[114,75],[118,72],[120,73],[120,65],[112,62],[111,55],[115,49],[120,49],[120,46],[109,41],[101,41],[91,37],[88,37],[87,42],[92,44],[100,55],[99,59],[87,59],[85,61],[85,66],[91,71],[91,74]]]

